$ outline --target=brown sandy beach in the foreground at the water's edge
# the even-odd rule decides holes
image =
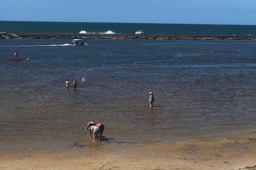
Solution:
[[[238,170],[256,165],[256,132],[159,143],[96,142],[47,148],[2,146],[1,170]],[[29,150],[30,148],[30,150]]]

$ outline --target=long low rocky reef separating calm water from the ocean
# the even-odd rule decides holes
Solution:
[[[0,32],[0,39],[130,39],[130,40],[256,40],[256,35],[174,35],[174,34],[33,34]]]

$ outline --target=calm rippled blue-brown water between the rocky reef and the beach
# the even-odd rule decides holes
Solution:
[[[255,40],[84,42],[0,39],[0,144],[89,143],[90,121],[113,143],[256,129]]]

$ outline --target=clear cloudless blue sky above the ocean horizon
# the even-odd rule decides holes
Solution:
[[[0,0],[0,21],[256,25],[256,0]]]

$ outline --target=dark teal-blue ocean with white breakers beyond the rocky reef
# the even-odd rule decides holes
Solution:
[[[256,35],[256,26],[207,24],[146,24],[104,22],[0,21],[0,32],[54,34],[197,34]]]

